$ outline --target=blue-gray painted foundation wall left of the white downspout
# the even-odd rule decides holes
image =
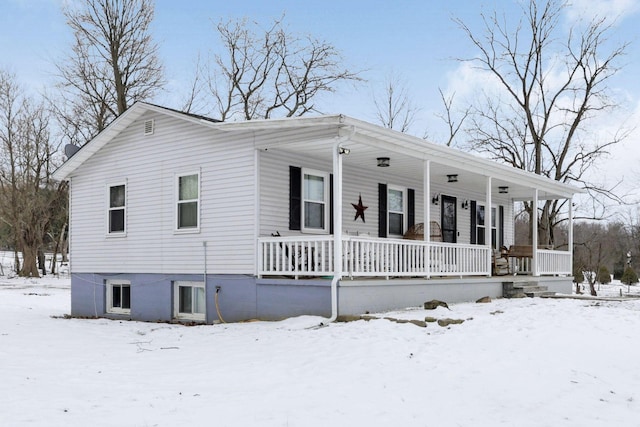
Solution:
[[[106,312],[107,280],[131,284],[131,313]],[[106,317],[148,322],[173,320],[173,283],[202,282],[194,274],[109,274],[71,275],[71,315]],[[266,280],[244,275],[208,275],[206,280],[206,322],[220,321],[215,305],[218,292],[220,315],[226,322],[249,319],[278,320],[299,315],[331,314],[330,280]]]

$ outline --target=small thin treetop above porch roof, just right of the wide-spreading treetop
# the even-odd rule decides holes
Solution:
[[[374,93],[373,105],[382,126],[405,133],[409,132],[420,111],[411,99],[406,82],[394,72],[385,78],[383,90]]]

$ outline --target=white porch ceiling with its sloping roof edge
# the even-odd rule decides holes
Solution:
[[[420,138],[383,129],[366,122],[343,118],[338,127],[318,124],[315,132],[295,133],[295,138],[282,138],[282,129],[277,141],[262,143],[259,148],[269,151],[283,150],[296,155],[311,157],[327,163],[332,162],[333,147],[337,138],[344,142],[350,153],[342,157],[344,168],[358,168],[372,172],[384,172],[389,176],[422,177],[424,161],[431,160],[431,183],[452,188],[484,193],[485,177],[492,177],[492,192],[498,187],[509,187],[509,197],[514,200],[531,200],[534,189],[544,199],[564,199],[580,192],[579,189],[558,183],[546,177],[498,164],[476,155],[429,143]],[[309,128],[307,128],[309,129]],[[264,140],[263,140],[264,141]],[[378,157],[389,157],[390,166],[377,167]],[[458,175],[458,181],[449,183],[447,175]]]

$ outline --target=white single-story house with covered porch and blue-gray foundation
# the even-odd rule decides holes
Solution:
[[[76,316],[335,317],[499,297],[514,272],[571,291],[571,226],[568,248],[532,233],[510,275],[492,264],[515,201],[566,200],[571,218],[579,190],[341,115],[221,123],[139,102],[55,178]]]

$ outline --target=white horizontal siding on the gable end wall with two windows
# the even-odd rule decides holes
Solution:
[[[153,135],[144,136],[154,118]],[[144,161],[141,161],[144,159]],[[250,135],[147,113],[73,174],[74,272],[216,274],[255,271],[255,151]],[[176,174],[200,171],[199,234],[176,233]],[[127,177],[127,238],[107,239],[106,185]]]

